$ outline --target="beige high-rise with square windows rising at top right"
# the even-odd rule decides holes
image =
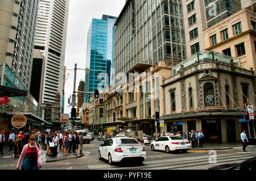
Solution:
[[[187,57],[204,50],[203,31],[249,6],[249,0],[182,0]],[[215,41],[215,40],[213,40]]]

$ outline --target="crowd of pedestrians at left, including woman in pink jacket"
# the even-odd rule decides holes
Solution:
[[[5,142],[5,131],[0,132],[0,156],[3,155],[3,143]],[[19,158],[16,169],[22,163],[22,170],[38,170],[42,167],[42,150],[48,157],[57,157],[60,151],[63,155],[75,153],[82,154],[82,133],[40,131],[36,129],[30,132],[10,131],[8,141],[9,151],[14,151],[12,157]],[[23,162],[22,162],[23,161]]]

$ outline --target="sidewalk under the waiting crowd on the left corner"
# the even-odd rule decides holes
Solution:
[[[75,153],[71,152],[67,156],[64,156],[64,152],[61,152],[61,150],[59,150],[59,148],[60,147],[58,146],[59,154],[57,154],[57,157],[55,157],[55,158],[48,157],[46,155],[46,151],[42,150],[43,163],[62,161],[62,160],[65,160],[65,159],[80,158],[80,157],[84,157],[84,155],[85,155],[85,157],[89,156],[89,154],[85,153],[84,151],[82,151],[82,154],[80,155],[79,150],[77,150],[77,153],[79,155],[75,155]],[[19,158],[11,158],[12,154],[14,154],[14,151],[9,151],[9,144],[5,144],[3,146],[3,155],[0,156],[0,165],[13,165],[13,164],[18,163]]]

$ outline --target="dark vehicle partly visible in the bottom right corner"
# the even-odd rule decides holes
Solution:
[[[256,170],[256,157],[247,159],[241,163],[229,163],[225,165],[210,167],[209,170]]]

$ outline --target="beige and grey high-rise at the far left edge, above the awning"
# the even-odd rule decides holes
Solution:
[[[30,90],[39,0],[0,1],[0,65],[6,63]]]

